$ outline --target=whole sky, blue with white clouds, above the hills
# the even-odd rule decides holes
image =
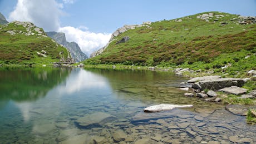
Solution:
[[[208,11],[256,16],[256,0],[0,0],[0,12],[9,21],[31,21],[46,31],[65,32],[83,51],[91,49],[87,54],[104,46],[110,34],[124,24]]]

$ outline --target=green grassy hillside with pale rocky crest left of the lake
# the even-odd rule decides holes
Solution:
[[[46,51],[46,57],[37,52]],[[30,22],[0,26],[0,64],[51,64],[67,57],[67,49],[47,37],[42,28]]]

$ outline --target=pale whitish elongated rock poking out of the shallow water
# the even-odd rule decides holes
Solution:
[[[193,107],[193,105],[167,105],[167,104],[160,104],[160,105],[154,105],[150,107],[144,108],[144,112],[159,112],[164,110],[173,110],[173,108],[187,108],[187,107]]]

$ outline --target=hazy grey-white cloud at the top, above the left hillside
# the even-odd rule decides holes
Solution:
[[[62,7],[62,4],[53,0],[18,0],[8,21],[29,21],[46,31],[56,31],[60,27]]]

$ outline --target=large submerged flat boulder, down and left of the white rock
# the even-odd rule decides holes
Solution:
[[[75,122],[82,128],[92,126],[102,126],[106,122],[116,120],[116,117],[104,112],[95,112],[84,117],[78,118]]]

